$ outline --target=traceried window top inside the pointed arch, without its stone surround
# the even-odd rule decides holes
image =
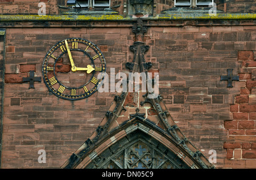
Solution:
[[[105,149],[85,168],[97,169],[181,169],[189,168],[169,148],[137,130]]]

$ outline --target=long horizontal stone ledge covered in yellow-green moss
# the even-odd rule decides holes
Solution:
[[[143,20],[256,20],[256,14],[160,14],[143,16]],[[83,21],[135,21],[137,18],[122,15],[0,15],[0,22],[83,22]]]

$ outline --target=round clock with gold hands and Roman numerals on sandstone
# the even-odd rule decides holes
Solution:
[[[68,38],[47,52],[42,71],[44,83],[54,95],[81,100],[97,91],[105,77],[106,62],[93,42]]]

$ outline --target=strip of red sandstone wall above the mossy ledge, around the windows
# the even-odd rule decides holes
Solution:
[[[57,15],[60,12],[66,11],[59,8],[60,6],[67,6],[67,0],[29,0],[29,1],[16,1],[16,0],[1,0],[0,1],[0,14],[38,14],[38,4],[40,2],[46,3],[46,14]],[[111,7],[113,10],[118,11],[119,14],[123,14],[125,1],[111,1]],[[217,8],[227,13],[254,13],[255,2],[253,0],[231,0],[231,1],[214,1],[217,4]],[[126,2],[127,3],[127,2]],[[160,14],[163,10],[174,7],[174,1],[155,0],[154,11],[156,14]]]

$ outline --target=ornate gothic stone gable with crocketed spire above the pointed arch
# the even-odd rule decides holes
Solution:
[[[130,72],[145,72],[148,46],[142,20],[133,27],[136,42]],[[148,77],[146,77],[148,78]],[[141,88],[140,88],[141,89]],[[214,168],[183,135],[154,91],[120,92],[96,131],[61,168]]]

